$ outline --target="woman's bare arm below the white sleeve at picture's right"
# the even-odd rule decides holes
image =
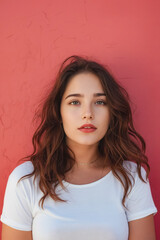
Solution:
[[[128,240],[156,240],[153,214],[129,222]]]

